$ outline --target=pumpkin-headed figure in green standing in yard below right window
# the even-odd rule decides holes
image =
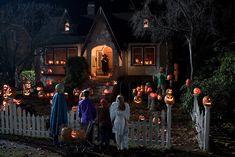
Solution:
[[[153,75],[153,82],[157,86],[158,94],[165,94],[166,75],[164,74],[164,68],[160,67],[159,72]]]

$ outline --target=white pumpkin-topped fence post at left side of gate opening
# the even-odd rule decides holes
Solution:
[[[171,147],[171,107],[172,105],[166,104],[167,106],[167,136],[166,136],[166,148]]]

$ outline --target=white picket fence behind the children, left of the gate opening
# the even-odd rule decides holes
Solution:
[[[31,115],[26,113],[15,104],[10,104],[5,111],[0,111],[0,134],[14,134],[32,137],[49,138],[49,129],[46,128],[46,121],[49,117]],[[158,124],[158,118],[161,124]],[[149,118],[148,122],[138,121],[129,123],[129,143],[131,145],[161,145],[166,146],[167,127],[166,113],[162,111],[156,114],[156,123]],[[74,130],[79,130],[79,123],[76,113],[68,113],[68,125]],[[97,126],[94,129],[94,137],[98,136]]]

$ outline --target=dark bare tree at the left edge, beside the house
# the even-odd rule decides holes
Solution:
[[[0,62],[1,75],[12,85],[15,75],[33,62],[34,50],[45,41],[40,30],[60,11],[55,6],[44,3],[9,2],[0,8],[0,47],[4,60]],[[54,29],[55,30],[55,29]],[[47,30],[51,34],[53,31]],[[46,30],[45,30],[46,31]]]

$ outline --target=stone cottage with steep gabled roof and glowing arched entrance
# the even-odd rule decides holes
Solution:
[[[65,76],[64,65],[70,56],[87,59],[91,76],[117,79],[120,76],[151,76],[171,62],[171,47],[136,39],[128,25],[131,12],[110,12],[88,3],[87,15],[71,20],[67,11],[60,18],[57,33],[47,40],[38,60],[41,81],[51,84]],[[148,21],[143,21],[147,27]],[[60,24],[60,25],[59,25]],[[145,26],[144,26],[145,24]],[[73,27],[72,27],[73,26]],[[76,28],[74,30],[74,28]],[[169,44],[170,45],[170,44]],[[109,59],[109,74],[102,73],[103,55]]]

